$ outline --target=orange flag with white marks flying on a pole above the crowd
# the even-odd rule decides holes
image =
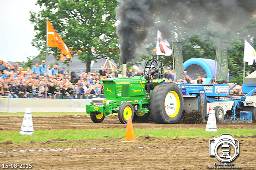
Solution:
[[[47,46],[57,47],[62,50],[65,56],[73,59],[70,52],[68,52],[68,47],[66,46],[62,38],[60,38],[59,34],[54,30],[49,20],[47,20]]]

